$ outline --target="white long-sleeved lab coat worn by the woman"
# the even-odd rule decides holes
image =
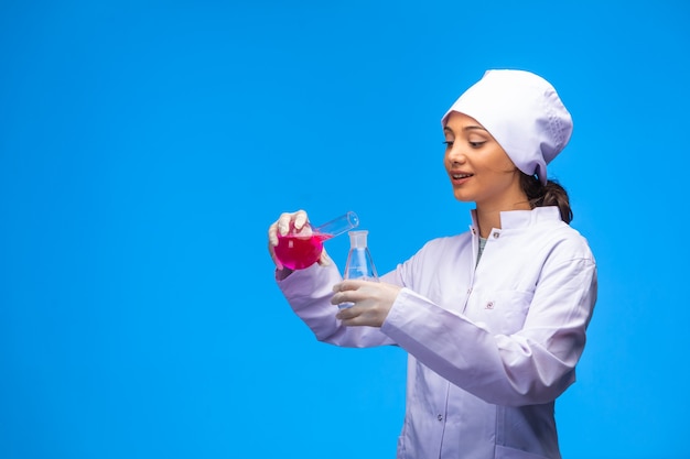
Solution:
[[[319,340],[408,352],[400,459],[560,458],[554,401],[575,379],[596,265],[557,207],[500,217],[476,269],[473,211],[468,232],[428,242],[382,276],[403,288],[380,329],[335,318],[335,265],[278,282]]]

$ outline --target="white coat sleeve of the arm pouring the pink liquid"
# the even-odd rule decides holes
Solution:
[[[342,276],[335,264],[314,264],[291,273],[284,280],[277,277],[278,286],[292,310],[317,340],[349,348],[395,345],[377,327],[345,327],[335,318],[338,307],[331,304],[331,297],[333,285],[341,281]]]

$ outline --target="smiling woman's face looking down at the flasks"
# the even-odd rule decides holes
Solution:
[[[443,162],[457,200],[475,201],[477,209],[486,210],[529,208],[520,171],[482,124],[454,111],[443,133]]]

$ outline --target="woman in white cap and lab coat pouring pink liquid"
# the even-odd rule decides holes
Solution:
[[[596,264],[569,226],[568,194],[547,177],[572,119],[554,88],[489,70],[442,117],[444,165],[470,230],[424,244],[380,283],[343,281],[325,252],[276,278],[321,341],[408,352],[398,458],[560,458],[554,403],[574,381],[596,300]],[[354,303],[339,309],[341,303]]]

